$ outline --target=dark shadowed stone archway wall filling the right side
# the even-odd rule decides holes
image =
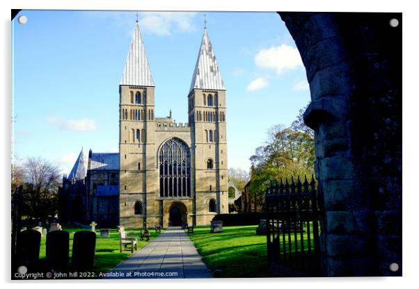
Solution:
[[[279,14],[310,83],[324,274],[401,276],[402,14]]]

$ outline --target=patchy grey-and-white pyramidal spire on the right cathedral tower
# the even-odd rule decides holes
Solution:
[[[216,62],[214,51],[207,28],[204,28],[203,41],[200,44],[198,59],[196,60],[195,70],[193,71],[191,92],[193,89],[201,90],[226,90],[219,65]]]

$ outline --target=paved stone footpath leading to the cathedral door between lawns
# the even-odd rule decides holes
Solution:
[[[180,227],[166,229],[109,273],[111,276],[107,278],[112,279],[212,278],[195,246]]]

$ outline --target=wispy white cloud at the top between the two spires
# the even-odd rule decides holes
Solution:
[[[157,35],[171,35],[173,29],[182,32],[194,31],[192,19],[196,13],[159,12],[141,13],[139,20],[141,31]]]

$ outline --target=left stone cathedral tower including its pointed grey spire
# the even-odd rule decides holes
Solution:
[[[154,224],[155,83],[138,22],[119,85],[120,225]]]

